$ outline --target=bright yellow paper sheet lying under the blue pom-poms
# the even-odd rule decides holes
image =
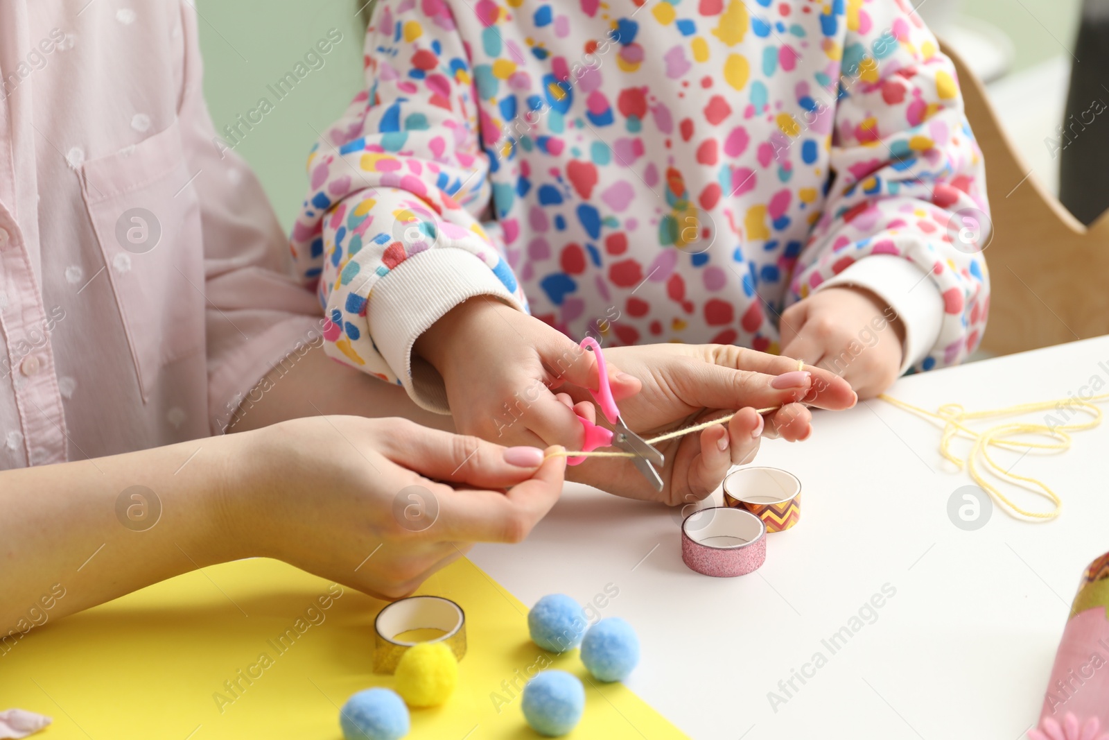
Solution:
[[[586,686],[586,713],[568,738],[685,737],[623,685],[593,680],[577,650],[540,650],[527,607],[469,560],[419,592],[462,607],[469,650],[458,690],[441,708],[414,710],[409,738],[538,738],[511,683],[547,660]],[[53,717],[34,736],[43,740],[340,740],[347,697],[393,686],[373,673],[383,606],[276,560],[205,568],[32,629],[0,656],[0,710]]]

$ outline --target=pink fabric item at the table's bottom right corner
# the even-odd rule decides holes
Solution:
[[[1109,740],[1109,620],[1103,607],[1067,622],[1032,740]]]

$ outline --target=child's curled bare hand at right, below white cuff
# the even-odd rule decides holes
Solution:
[[[816,291],[782,314],[782,354],[841,375],[859,398],[894,384],[904,341],[897,314],[861,287]]]

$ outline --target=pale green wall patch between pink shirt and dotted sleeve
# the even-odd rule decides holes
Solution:
[[[273,105],[246,131],[235,151],[257,172],[282,226],[288,231],[304,199],[304,163],[317,138],[346,109],[362,87],[365,26],[358,14],[365,0],[197,0],[204,95],[216,131],[246,118],[260,99]],[[330,29],[343,40],[278,100],[267,89]],[[318,67],[319,62],[315,62]],[[305,69],[302,68],[302,69]],[[230,142],[230,139],[228,139]]]

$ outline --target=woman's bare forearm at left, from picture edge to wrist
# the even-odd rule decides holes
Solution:
[[[254,434],[0,472],[0,655],[34,626],[250,555]]]

